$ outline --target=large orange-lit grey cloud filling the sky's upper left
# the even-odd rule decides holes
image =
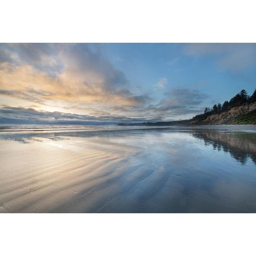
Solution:
[[[111,65],[100,45],[0,46],[0,89],[5,94],[12,91],[9,97],[45,105],[58,101],[61,105],[81,102],[102,107],[137,106],[146,100],[145,96],[130,92],[125,74]]]

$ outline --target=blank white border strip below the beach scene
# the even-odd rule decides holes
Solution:
[[[1,214],[2,255],[254,255],[254,214]]]

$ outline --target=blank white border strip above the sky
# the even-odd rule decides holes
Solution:
[[[0,42],[256,42],[255,1],[2,1]]]

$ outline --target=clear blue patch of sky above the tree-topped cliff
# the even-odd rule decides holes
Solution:
[[[200,45],[200,44],[198,44]],[[201,44],[202,45],[202,44]],[[205,101],[224,101],[233,97],[243,87],[252,93],[256,85],[256,45],[255,44],[205,44],[208,53],[188,54],[188,44],[106,44],[107,52],[116,67],[125,70],[125,74],[134,85],[141,86],[145,92],[154,90],[159,78],[166,78],[163,90],[156,90],[156,97],[175,86],[196,88],[209,94]],[[227,45],[227,50],[212,50],[216,45]],[[193,44],[190,44],[192,47]],[[251,58],[247,54],[237,56],[240,61],[249,62],[241,68],[235,65],[221,67],[220,61],[237,54],[250,46]],[[211,49],[212,48],[212,49]]]

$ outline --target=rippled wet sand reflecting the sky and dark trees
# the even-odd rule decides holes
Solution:
[[[256,212],[253,129],[58,130],[2,132],[0,212]]]

